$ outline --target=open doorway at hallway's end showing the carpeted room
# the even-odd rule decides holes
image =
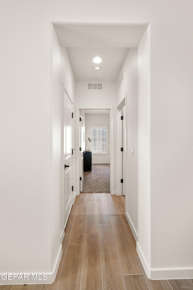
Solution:
[[[79,109],[80,192],[111,192],[110,109]]]

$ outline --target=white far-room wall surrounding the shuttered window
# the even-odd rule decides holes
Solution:
[[[85,140],[91,137],[91,125],[108,126],[108,154],[92,154],[92,163],[110,163],[110,115],[109,114],[85,114]],[[88,141],[87,148],[91,150],[91,142]]]

